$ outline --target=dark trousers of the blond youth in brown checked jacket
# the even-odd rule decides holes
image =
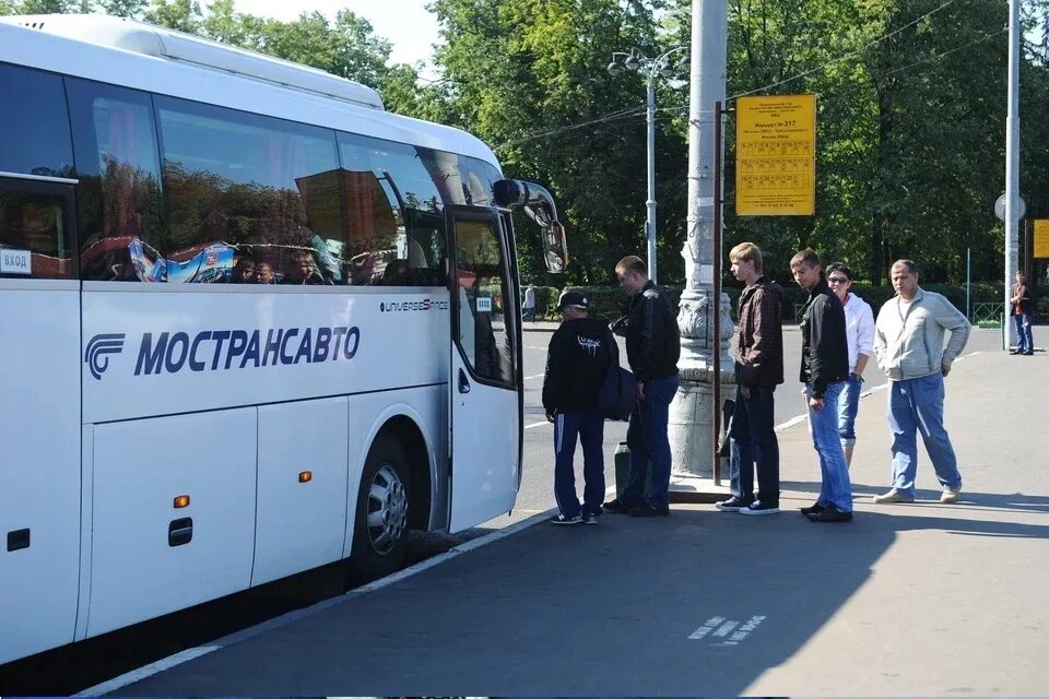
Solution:
[[[729,430],[729,488],[738,498],[754,499],[754,466],[757,495],[763,505],[779,507],[779,440],[776,438],[775,388],[751,387],[751,398],[735,390],[732,428]]]

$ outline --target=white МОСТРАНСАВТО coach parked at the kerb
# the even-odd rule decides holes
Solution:
[[[0,94],[0,663],[512,507],[545,190],[133,21],[3,17]]]

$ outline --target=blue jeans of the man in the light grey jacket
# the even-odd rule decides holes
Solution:
[[[888,430],[893,437],[893,487],[900,495],[915,496],[918,471],[918,439],[921,433],[940,485],[960,489],[962,474],[951,438],[943,427],[943,376],[889,381]]]

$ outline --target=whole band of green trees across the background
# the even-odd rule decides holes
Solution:
[[[0,14],[139,16],[376,87],[389,110],[465,129],[493,146],[506,176],[551,190],[568,230],[568,270],[546,275],[535,226],[517,217],[522,279],[602,286],[616,260],[644,257],[647,198],[645,79],[605,67],[613,51],[688,46],[692,1],[433,0],[443,38],[436,81],[422,80],[421,66],[388,66],[389,42],[349,10],[280,22],[237,12],[235,0],[203,9],[198,0],[0,0]],[[757,242],[788,288],[787,260],[806,246],[875,284],[897,258],[916,260],[923,284],[958,282],[971,250],[974,277],[997,288],[1006,3],[726,0],[730,98],[812,93],[818,109],[811,217],[734,215],[728,119],[726,249]],[[1021,67],[1021,182],[1028,216],[1049,218],[1049,32],[1036,29],[1049,27],[1049,0],[1023,7],[1026,36],[1041,43],[1025,47]],[[687,84],[658,79],[656,92],[660,282],[680,286]]]

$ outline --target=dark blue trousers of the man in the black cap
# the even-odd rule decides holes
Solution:
[[[561,513],[579,514],[576,496],[576,436],[582,443],[582,512],[600,514],[604,499],[604,417],[597,411],[557,413],[554,419],[554,497]]]

